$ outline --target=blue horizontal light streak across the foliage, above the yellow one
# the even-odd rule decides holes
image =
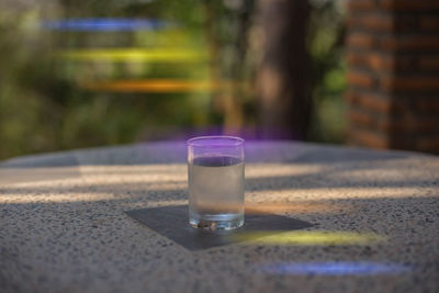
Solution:
[[[170,26],[168,22],[147,19],[69,19],[42,22],[41,26],[54,31],[138,31]]]

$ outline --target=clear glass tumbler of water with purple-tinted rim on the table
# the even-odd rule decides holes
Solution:
[[[203,229],[244,225],[244,139],[201,136],[188,140],[189,223]]]

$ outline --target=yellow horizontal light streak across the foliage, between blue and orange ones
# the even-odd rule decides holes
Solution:
[[[56,53],[58,58],[82,61],[201,61],[207,59],[202,49],[122,48],[69,49]]]

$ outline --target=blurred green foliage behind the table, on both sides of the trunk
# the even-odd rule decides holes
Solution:
[[[71,1],[46,7],[0,2],[0,159],[60,149],[172,138],[188,128],[224,123],[215,99],[226,93],[92,92],[92,80],[252,78],[246,33],[255,1]],[[309,52],[316,104],[311,137],[342,140],[340,59],[342,14],[333,1],[313,2]],[[161,31],[44,31],[47,19],[151,18],[175,26]],[[181,63],[78,61],[57,58],[65,49],[185,48],[205,50],[210,60]],[[226,90],[227,91],[227,90]],[[245,117],[255,116],[252,93],[237,94]]]

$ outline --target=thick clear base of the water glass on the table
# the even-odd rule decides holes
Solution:
[[[230,230],[244,225],[244,214],[200,215],[189,210],[189,224],[194,228],[206,230]]]

